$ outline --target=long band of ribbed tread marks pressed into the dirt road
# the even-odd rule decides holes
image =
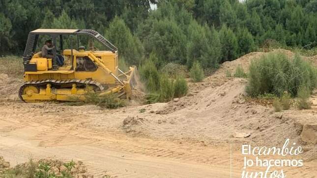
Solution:
[[[215,153],[214,150],[208,152],[207,147],[191,145],[193,148],[190,148],[187,145],[183,146],[174,143],[164,146],[162,143],[154,142],[149,139],[140,138],[134,139],[135,141],[130,141],[125,136],[123,136],[123,139],[118,139],[109,135],[109,133],[105,136],[98,135],[94,132],[91,133],[88,130],[81,130],[81,132],[84,132],[85,135],[82,135],[75,130],[71,130],[70,126],[59,125],[54,126],[50,131],[46,130],[43,133],[36,135],[33,140],[38,141],[40,147],[90,145],[107,150],[120,150],[126,153],[137,153],[152,157],[186,160],[206,165],[217,164],[215,161],[219,160],[217,159],[217,153]],[[229,155],[230,151],[228,148],[225,150],[227,150]],[[224,152],[224,148],[222,152]],[[229,165],[229,162],[229,156],[227,160],[221,160],[222,165]]]

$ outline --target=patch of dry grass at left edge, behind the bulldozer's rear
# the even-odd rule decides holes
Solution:
[[[0,57],[0,74],[12,77],[20,77],[24,73],[23,59],[18,56]]]

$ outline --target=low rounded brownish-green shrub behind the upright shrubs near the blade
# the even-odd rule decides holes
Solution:
[[[177,76],[187,77],[188,71],[186,66],[170,62],[166,64],[162,69],[162,73],[168,74],[172,78],[177,78]]]

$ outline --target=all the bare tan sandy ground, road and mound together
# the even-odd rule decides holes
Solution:
[[[247,69],[262,54],[224,63],[203,82],[191,83],[190,94],[179,101],[115,110],[22,103],[16,94],[21,80],[0,74],[0,155],[11,165],[29,157],[83,161],[96,178],[238,178],[242,144],[281,147],[289,138],[303,146],[296,159],[305,162],[285,168],[288,178],[314,178],[317,93],[309,110],[276,113],[245,100],[245,79],[226,77],[226,71]],[[251,135],[235,138],[236,133]]]

